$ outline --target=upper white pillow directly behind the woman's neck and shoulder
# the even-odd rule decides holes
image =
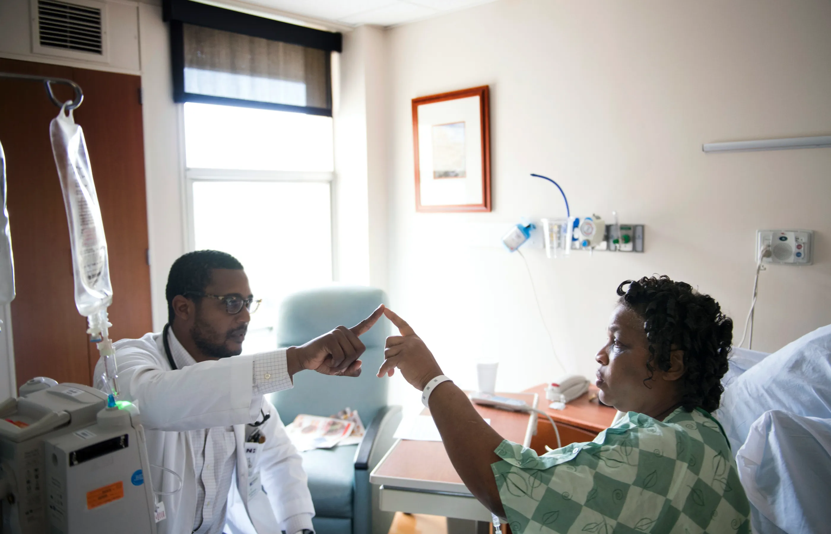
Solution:
[[[785,345],[727,386],[715,416],[734,455],[750,425],[771,409],[831,419],[831,325]]]

